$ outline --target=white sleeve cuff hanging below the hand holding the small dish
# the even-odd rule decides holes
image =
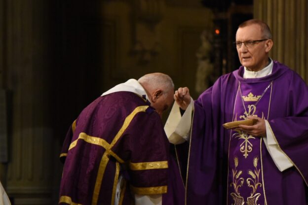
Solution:
[[[290,167],[293,167],[292,162],[283,153],[283,151],[280,149],[279,145],[275,141],[274,136],[270,129],[269,122],[267,120],[265,120],[265,126],[266,126],[267,137],[263,137],[263,140],[278,170],[284,171]]]

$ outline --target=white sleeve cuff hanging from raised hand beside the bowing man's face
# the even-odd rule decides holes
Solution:
[[[193,99],[183,116],[181,116],[179,105],[174,102],[164,130],[172,144],[181,144],[190,139],[190,131],[192,126],[192,111],[194,109]]]

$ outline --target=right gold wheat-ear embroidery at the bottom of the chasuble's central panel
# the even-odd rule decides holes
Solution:
[[[252,178],[247,178],[246,182],[247,182],[247,185],[252,188],[252,192],[250,194],[250,197],[247,198],[247,202],[246,202],[247,205],[257,205],[257,201],[259,197],[261,196],[260,193],[256,193],[258,186],[262,187],[262,184],[259,182],[260,169],[257,169],[258,160],[259,160],[258,157],[255,157],[253,159],[255,170],[254,171],[248,170],[248,174]]]

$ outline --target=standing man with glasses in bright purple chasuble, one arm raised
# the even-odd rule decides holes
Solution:
[[[272,45],[266,23],[246,21],[235,41],[242,66],[194,102],[188,88],[175,92],[165,131],[189,145],[187,205],[308,204],[308,86],[269,58]],[[247,119],[257,122],[222,126]]]

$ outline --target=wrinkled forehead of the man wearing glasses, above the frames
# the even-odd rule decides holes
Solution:
[[[258,24],[238,28],[235,36],[236,41],[260,40],[261,38],[261,27]]]

